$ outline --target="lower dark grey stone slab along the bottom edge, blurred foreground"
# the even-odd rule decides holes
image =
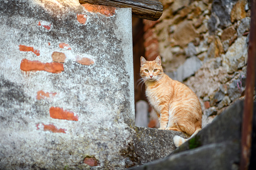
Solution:
[[[233,148],[233,149],[231,149]],[[233,169],[238,168],[239,144],[214,143],[187,150],[131,169]]]

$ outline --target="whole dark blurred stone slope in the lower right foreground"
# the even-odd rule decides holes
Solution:
[[[256,103],[254,103],[254,111]],[[243,101],[236,101],[195,137],[162,159],[129,169],[238,169]],[[249,169],[255,169],[255,122]],[[254,143],[254,144],[253,144]]]

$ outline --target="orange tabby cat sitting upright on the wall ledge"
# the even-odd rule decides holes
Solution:
[[[198,133],[202,127],[202,109],[196,94],[163,73],[160,56],[154,61],[141,57],[140,66],[141,81],[146,85],[146,96],[158,116],[159,129],[182,131],[192,136]],[[177,147],[186,140],[174,137]]]

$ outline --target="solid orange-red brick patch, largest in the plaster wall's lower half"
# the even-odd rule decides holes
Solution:
[[[74,116],[74,112],[69,110],[63,110],[60,107],[51,107],[50,108],[50,116],[54,119],[65,119],[65,120],[78,120],[78,116]]]

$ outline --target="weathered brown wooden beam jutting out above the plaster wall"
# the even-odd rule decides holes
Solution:
[[[131,8],[132,17],[146,20],[158,20],[163,11],[158,0],[79,0],[80,4],[96,4],[116,8]]]

